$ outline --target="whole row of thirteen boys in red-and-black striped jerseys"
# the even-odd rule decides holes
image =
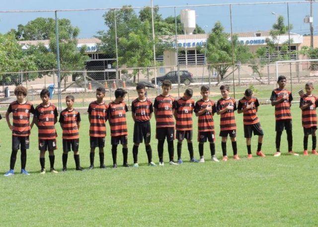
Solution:
[[[270,97],[271,103],[275,106],[276,118],[276,152],[274,156],[279,156],[280,140],[284,129],[287,132],[288,152],[292,155],[298,155],[292,150],[292,117],[291,117],[291,101],[293,100],[290,91],[285,89],[285,76],[278,77],[278,88],[272,91]],[[191,162],[204,162],[204,143],[209,141],[211,158],[213,161],[219,161],[215,156],[215,129],[214,119],[215,113],[220,115],[220,137],[222,137],[222,153],[223,161],[228,160],[227,156],[227,139],[228,136],[232,142],[234,159],[239,159],[236,143],[236,120],[234,111],[243,113],[244,137],[246,138],[247,158],[252,158],[250,140],[252,133],[258,136],[258,146],[256,155],[265,157],[261,151],[263,131],[257,117],[258,100],[252,96],[252,91],[246,89],[244,97],[236,104],[236,100],[229,96],[230,88],[228,85],[220,87],[222,98],[215,103],[210,100],[209,87],[201,86],[202,98],[197,102],[192,99],[193,91],[188,88],[183,96],[175,100],[169,91],[171,82],[165,80],[162,83],[162,93],[155,98],[154,104],[146,97],[146,87],[143,84],[138,84],[136,87],[138,98],[132,102],[132,118],[134,124],[134,146],[133,159],[135,167],[138,167],[138,148],[140,143],[144,141],[148,163],[150,166],[156,166],[152,161],[151,141],[151,125],[150,120],[152,114],[156,118],[156,138],[158,139],[158,156],[159,165],[163,163],[163,145],[167,140],[167,148],[169,153],[169,164],[182,164],[181,150],[183,140],[187,141],[187,147],[190,154]],[[302,123],[304,127],[304,155],[308,155],[308,136],[312,135],[313,148],[312,153],[318,154],[316,151],[316,130],[317,130],[317,115],[316,106],[318,99],[312,94],[313,83],[307,83],[305,86],[306,93],[301,94],[300,108],[302,109]],[[40,93],[42,103],[35,109],[33,105],[25,100],[27,90],[23,86],[17,86],[14,90],[16,101],[12,102],[5,114],[6,121],[10,130],[12,130],[12,152],[10,157],[10,169],[4,175],[9,176],[14,174],[14,165],[17,151],[21,150],[21,173],[29,175],[25,170],[26,165],[26,150],[29,148],[30,130],[35,124],[38,127],[39,150],[40,150],[40,165],[41,173],[46,172],[45,169],[45,152],[49,151],[50,171],[57,173],[54,169],[56,146],[56,130],[55,124],[58,119],[57,108],[49,102],[49,91],[43,89]],[[127,92],[124,89],[118,88],[115,91],[115,100],[106,104],[103,100],[105,89],[100,87],[96,89],[96,101],[91,102],[88,107],[88,118],[90,122],[90,166],[94,168],[95,148],[98,147],[100,168],[105,168],[104,165],[104,146],[106,137],[106,125],[108,120],[111,132],[111,151],[113,159],[113,167],[117,167],[117,146],[122,145],[123,166],[129,167],[128,164],[128,130],[126,122],[127,105],[124,102]],[[73,95],[66,97],[67,108],[60,113],[59,122],[63,130],[63,171],[67,171],[68,152],[74,152],[76,170],[83,170],[79,162],[79,127],[80,114],[73,107],[75,98]],[[198,117],[198,142],[200,159],[194,158],[192,146],[192,113]],[[9,114],[13,115],[13,124],[11,125]],[[30,114],[34,115],[30,123]],[[176,123],[174,123],[174,119]],[[176,135],[174,134],[176,130]],[[177,139],[177,161],[174,161],[174,146],[173,140]]]

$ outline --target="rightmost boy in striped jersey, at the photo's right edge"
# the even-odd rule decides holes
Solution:
[[[308,136],[312,135],[312,153],[318,154],[316,151],[317,137],[317,113],[316,108],[318,106],[317,96],[313,95],[314,84],[308,82],[305,85],[306,94],[303,94],[300,98],[299,107],[302,110],[302,124],[304,128],[304,155],[308,155]]]

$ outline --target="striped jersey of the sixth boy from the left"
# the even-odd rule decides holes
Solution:
[[[150,114],[154,112],[154,106],[148,98],[145,101],[136,98],[131,104],[131,111],[135,114],[135,121],[146,122],[150,121]]]

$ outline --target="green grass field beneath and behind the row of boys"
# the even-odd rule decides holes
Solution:
[[[302,154],[303,129],[298,104],[292,106],[294,151]],[[88,118],[82,114],[80,129],[81,166],[89,166]],[[228,141],[227,162],[210,161],[208,144],[205,145],[205,163],[189,163],[186,143],[183,145],[184,163],[168,164],[166,143],[165,166],[147,166],[142,144],[139,149],[139,168],[112,169],[110,134],[106,137],[105,160],[108,168],[75,171],[70,153],[68,171],[58,174],[39,174],[37,129],[33,128],[31,148],[28,150],[26,169],[30,176],[19,174],[20,157],[15,165],[16,174],[2,176],[8,170],[11,135],[5,120],[0,121],[0,226],[318,226],[317,216],[317,163],[318,156],[287,155],[286,133],[283,133],[283,155],[275,152],[274,107],[261,105],[259,118],[264,130],[262,151],[265,158],[254,155],[246,159],[247,151],[242,131],[242,115],[236,113],[238,124],[238,153],[233,160]],[[194,116],[196,128],[197,119]],[[215,116],[219,133],[219,116]],[[132,163],[133,122],[128,114],[129,163]],[[153,160],[158,163],[155,120],[152,119]],[[58,147],[56,169],[62,169],[62,138],[57,125]],[[194,153],[199,157],[194,130]],[[311,148],[311,139],[309,148]],[[255,154],[257,138],[252,138]],[[119,146],[118,163],[122,163]],[[221,139],[216,141],[217,156],[221,158]],[[48,154],[47,154],[48,155]],[[176,156],[176,143],[175,143]],[[175,157],[176,159],[176,157]],[[95,166],[99,165],[98,154]],[[48,156],[46,166],[49,167]]]

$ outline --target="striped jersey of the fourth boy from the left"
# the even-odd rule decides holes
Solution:
[[[98,104],[96,101],[89,103],[87,112],[89,115],[89,136],[105,137],[108,104]]]

